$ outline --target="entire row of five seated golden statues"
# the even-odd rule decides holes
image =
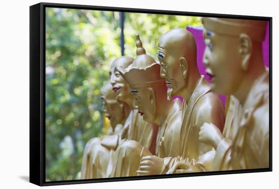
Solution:
[[[199,73],[193,35],[182,28],[160,37],[159,63],[136,35],[136,57],[111,64],[101,89],[111,131],[86,144],[82,179],[269,167],[267,22],[202,23],[211,84]],[[227,95],[226,112],[219,94]]]

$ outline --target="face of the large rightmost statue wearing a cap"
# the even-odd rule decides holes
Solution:
[[[239,37],[217,34],[204,29],[206,45],[203,64],[211,80],[211,89],[216,93],[233,94],[243,78]]]

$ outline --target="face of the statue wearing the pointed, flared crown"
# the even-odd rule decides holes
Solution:
[[[131,89],[131,93],[134,96],[135,105],[138,108],[138,114],[143,116],[144,121],[153,123],[156,119],[154,112],[155,98],[150,96],[147,92],[147,88]]]

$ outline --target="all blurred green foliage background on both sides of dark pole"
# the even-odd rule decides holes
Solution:
[[[121,56],[118,12],[46,9],[46,180],[80,178],[86,142],[101,136],[99,100],[110,63]],[[156,58],[165,31],[201,25],[200,18],[125,14],[125,55],[135,56],[135,34]]]

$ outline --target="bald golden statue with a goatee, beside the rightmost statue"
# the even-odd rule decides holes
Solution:
[[[199,141],[203,123],[213,123],[223,130],[225,110],[219,96],[213,93],[196,61],[196,43],[191,32],[176,28],[164,33],[158,43],[161,77],[168,86],[167,95],[184,98],[181,126],[181,154],[169,157],[163,173],[193,172],[187,164],[198,169],[210,170],[215,156],[212,146]],[[185,166],[186,165],[186,166]]]

